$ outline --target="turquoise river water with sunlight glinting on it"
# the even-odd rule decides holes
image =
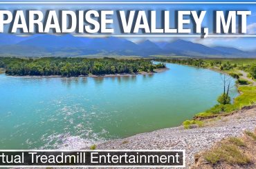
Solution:
[[[167,68],[129,77],[0,74],[0,149],[78,149],[179,126],[217,103],[219,72],[171,63]],[[232,86],[234,98],[234,79]]]

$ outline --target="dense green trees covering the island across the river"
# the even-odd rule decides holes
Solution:
[[[146,59],[86,59],[47,57],[38,59],[0,57],[0,68],[8,75],[78,77],[89,74],[137,74],[154,72],[165,64]]]

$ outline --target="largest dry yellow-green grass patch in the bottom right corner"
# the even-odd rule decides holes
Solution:
[[[249,157],[244,155],[239,148],[232,143],[222,143],[218,148],[213,148],[206,152],[203,157],[212,164],[216,164],[220,161],[239,165],[250,163]]]

